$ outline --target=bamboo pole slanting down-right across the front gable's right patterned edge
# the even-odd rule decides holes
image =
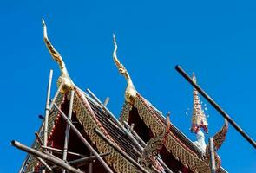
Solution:
[[[98,129],[95,129],[95,132],[101,137],[104,141],[106,141],[110,146],[115,148],[116,151],[119,151],[120,154],[128,159],[129,162],[135,164],[137,168],[139,168],[142,172],[148,173],[148,170],[145,170],[139,163],[137,163],[132,157],[129,157],[127,153],[121,150],[120,147],[118,147],[116,144],[113,144],[108,138],[106,138],[103,134],[102,131],[99,131]]]

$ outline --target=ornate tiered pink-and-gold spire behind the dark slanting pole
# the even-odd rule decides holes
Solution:
[[[193,73],[193,80],[196,83],[196,78]],[[200,104],[200,97],[198,91],[194,88],[194,103],[193,103],[193,114],[192,114],[192,126],[191,131],[197,133],[202,128],[206,133],[208,133],[208,123],[205,112],[202,110],[202,106]]]

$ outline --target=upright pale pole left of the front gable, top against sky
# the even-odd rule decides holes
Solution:
[[[43,145],[47,146],[48,139],[48,118],[49,118],[49,99],[50,99],[50,89],[52,82],[53,70],[49,70],[49,82],[47,88],[47,98],[46,98],[46,106],[45,106],[45,116],[44,116],[44,130],[43,130]],[[42,170],[42,173],[45,173],[45,170]]]

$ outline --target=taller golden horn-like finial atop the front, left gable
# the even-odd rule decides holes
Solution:
[[[47,28],[44,20],[42,19],[43,24],[43,40],[45,42],[46,47],[49,50],[49,54],[51,54],[52,58],[58,63],[60,69],[61,69],[61,76],[57,80],[57,86],[60,86],[63,82],[61,92],[62,93],[68,93],[69,90],[74,86],[74,83],[69,77],[68,70],[66,68],[66,65],[62,59],[61,54],[59,54],[56,49],[53,47],[51,42],[49,42],[49,38],[47,36]]]

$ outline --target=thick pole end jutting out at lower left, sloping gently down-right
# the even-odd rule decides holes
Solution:
[[[63,168],[63,169],[66,169],[66,170],[69,170],[70,172],[74,172],[74,173],[83,173],[81,170],[76,170],[74,167],[70,166],[69,164],[67,163],[64,163],[62,161],[59,161],[57,160],[56,158],[54,157],[50,157],[49,155],[46,155],[44,154],[43,152],[40,152],[40,151],[36,151],[35,149],[32,149],[24,144],[21,144],[15,140],[11,141],[11,144],[13,146],[15,146],[16,148],[22,150],[22,151],[26,151],[32,155],[35,155],[36,157],[41,157],[43,158],[44,160],[50,162],[50,163],[54,163],[56,164],[57,166]]]

